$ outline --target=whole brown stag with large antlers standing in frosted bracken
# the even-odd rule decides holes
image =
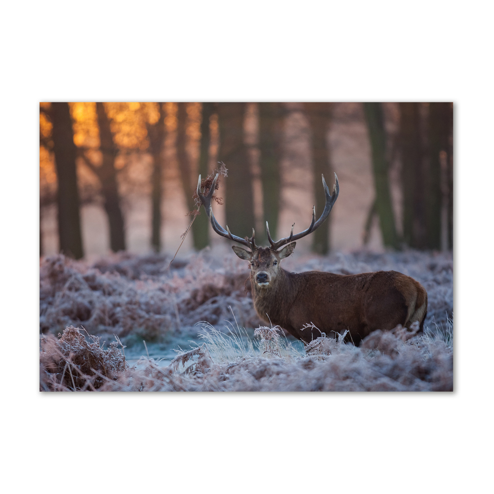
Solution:
[[[309,227],[288,237],[273,241],[266,221],[270,247],[259,247],[252,236],[238,237],[216,221],[211,207],[218,174],[209,190],[201,191],[201,175],[197,195],[206,210],[213,230],[220,236],[247,247],[232,246],[234,252],[249,263],[250,283],[255,311],[267,323],[285,329],[305,344],[325,333],[347,331],[345,341],[358,346],[363,338],[377,329],[391,330],[398,325],[410,328],[418,322],[417,332],[423,332],[427,315],[427,292],[413,278],[397,271],[377,271],[341,275],[321,271],[290,273],[281,267],[281,261],[294,250],[296,241],[313,233],[328,218],[339,195],[336,173],[332,194],[322,175],[326,195],[324,210],[316,221],[312,207]],[[350,336],[350,338],[348,338]]]

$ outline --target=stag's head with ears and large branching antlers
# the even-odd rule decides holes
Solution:
[[[331,208],[333,207],[339,194],[338,177],[336,176],[335,173],[334,174],[335,184],[333,186],[332,195],[329,194],[329,188],[326,185],[324,175],[322,175],[322,178],[323,178],[324,193],[326,195],[326,204],[324,206],[324,210],[321,216],[319,217],[319,219],[316,221],[316,208],[315,206],[312,206],[312,221],[309,228],[307,228],[303,232],[294,235],[293,227],[295,226],[295,223],[293,223],[293,225],[291,226],[290,235],[288,237],[278,240],[277,242],[274,242],[273,239],[271,238],[271,235],[269,233],[269,225],[268,222],[266,221],[266,233],[269,243],[271,244],[271,247],[258,247],[255,244],[255,232],[253,228],[252,228],[252,237],[241,238],[241,237],[237,237],[236,235],[233,235],[230,232],[228,225],[226,227],[226,230],[222,226],[220,226],[220,224],[216,221],[216,218],[214,217],[213,210],[211,207],[211,198],[214,193],[216,181],[218,179],[218,174],[216,174],[216,176],[214,177],[211,187],[209,188],[207,193],[205,191],[205,194],[201,192],[201,175],[199,175],[199,181],[197,183],[197,195],[201,200],[201,203],[203,204],[204,208],[206,209],[206,214],[207,217],[209,218],[209,221],[211,222],[211,226],[213,227],[213,230],[218,235],[233,240],[234,242],[242,244],[243,246],[248,248],[248,250],[246,250],[242,247],[232,246],[234,252],[241,259],[245,259],[249,261],[249,266],[252,273],[251,279],[252,282],[255,283],[255,285],[258,288],[266,289],[274,284],[276,280],[276,276],[280,269],[280,262],[282,259],[288,257],[293,252],[293,249],[295,248],[296,245],[295,241],[315,231],[329,216],[329,212],[331,211]],[[283,248],[279,250],[280,247]]]

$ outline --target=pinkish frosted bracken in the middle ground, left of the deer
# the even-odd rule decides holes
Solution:
[[[117,254],[111,260],[90,266],[63,255],[41,259],[41,332],[82,325],[92,334],[154,341],[198,321],[233,321],[229,306],[243,326],[260,322],[246,293],[248,272],[238,263],[218,268],[197,255],[166,272],[164,256]]]

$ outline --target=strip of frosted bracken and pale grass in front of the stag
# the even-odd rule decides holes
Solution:
[[[64,381],[63,376],[58,383],[62,365],[69,359],[57,361],[56,369],[47,367],[46,363],[49,365],[54,360],[50,353],[54,351],[53,345],[58,343],[51,340],[51,346],[45,345],[44,349],[40,387],[54,391],[74,388],[94,391],[452,391],[452,347],[441,338],[417,336],[416,329],[398,326],[392,331],[378,330],[365,338],[359,348],[345,344],[344,335],[337,339],[322,336],[306,347],[305,354],[287,355],[276,351],[282,337],[264,327],[258,332],[261,340],[257,351],[254,345],[248,344],[237,349],[237,356],[225,359],[210,344],[202,343],[180,353],[168,367],[143,357],[137,368],[121,367],[107,377],[98,372],[97,387],[88,386],[84,380],[87,369],[85,372],[76,369],[81,376],[79,384],[72,382],[71,386],[71,381],[68,378]],[[62,338],[68,330],[74,331],[67,329]],[[227,340],[228,337],[221,335],[217,346],[228,345]],[[260,353],[259,348],[267,342],[274,343],[272,351]],[[59,354],[56,349],[55,355]],[[120,363],[123,364],[122,357]],[[91,378],[86,376],[86,379]]]

